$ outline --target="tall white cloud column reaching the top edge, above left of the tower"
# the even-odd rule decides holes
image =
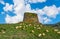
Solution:
[[[13,0],[14,1],[14,10],[16,14],[23,14],[25,11],[24,0]]]

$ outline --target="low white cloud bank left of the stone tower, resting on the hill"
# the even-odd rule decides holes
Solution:
[[[7,15],[5,20],[6,20],[6,23],[18,23],[23,20],[23,16],[17,15],[17,16],[11,17],[11,16]]]

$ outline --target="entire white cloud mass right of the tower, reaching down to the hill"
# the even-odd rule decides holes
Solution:
[[[37,9],[36,12],[39,15],[38,17],[41,23],[49,23],[52,21],[50,18],[55,19],[56,16],[60,14],[60,8],[57,8],[55,5],[45,6],[43,9]],[[46,15],[49,18],[43,17],[43,15]]]

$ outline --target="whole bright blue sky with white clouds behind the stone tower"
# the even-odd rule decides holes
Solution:
[[[24,12],[38,14],[39,22],[60,22],[60,0],[0,0],[0,24],[23,21]]]

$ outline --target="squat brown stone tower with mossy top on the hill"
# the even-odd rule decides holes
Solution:
[[[39,23],[37,14],[35,14],[35,13],[29,13],[29,12],[26,12],[24,14],[23,21],[27,22],[27,23]]]

